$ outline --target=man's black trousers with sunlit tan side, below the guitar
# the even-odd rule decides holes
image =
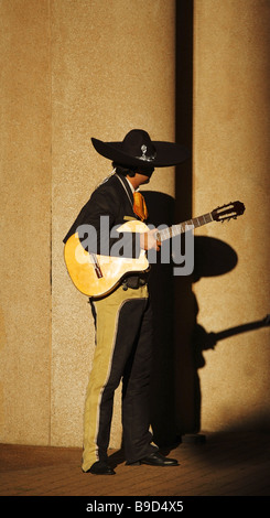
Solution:
[[[115,390],[122,380],[122,440],[128,462],[156,449],[150,432],[149,390],[153,355],[148,287],[118,288],[93,302],[96,350],[85,404],[83,470],[107,458]]]

